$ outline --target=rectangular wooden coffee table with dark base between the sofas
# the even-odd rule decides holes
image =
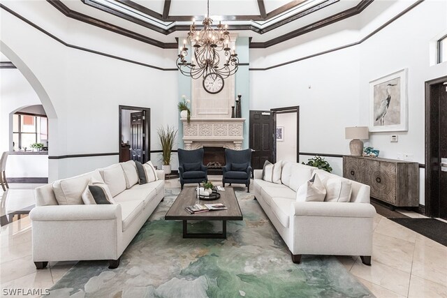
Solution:
[[[217,211],[206,211],[197,214],[190,214],[184,208],[197,203],[196,188],[185,187],[174,204],[165,216],[166,220],[183,221],[183,238],[226,238],[226,221],[242,221],[242,212],[239,202],[237,202],[235,191],[231,187],[226,187],[225,191],[218,191],[221,194],[219,200],[200,200],[200,204],[222,203],[228,209]],[[188,221],[222,221],[221,233],[189,233]]]

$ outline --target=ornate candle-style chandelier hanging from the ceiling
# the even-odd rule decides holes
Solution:
[[[183,40],[183,47],[179,47],[177,68],[183,75],[193,79],[205,78],[210,73],[220,75],[223,79],[234,75],[239,66],[239,59],[235,47],[233,51],[228,47],[230,41],[228,25],[219,22],[217,29],[212,28],[210,0],[207,0],[207,16],[202,24],[203,29],[200,31],[196,31],[195,20],[189,27],[188,38]],[[193,51],[191,61],[186,61],[189,50],[186,45],[191,45]],[[221,63],[221,59],[225,60]]]

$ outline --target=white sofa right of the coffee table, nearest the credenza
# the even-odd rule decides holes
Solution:
[[[369,186],[349,180],[349,202],[297,202],[296,191],[314,174],[323,184],[325,177],[344,179],[316,167],[284,163],[281,183],[275,184],[262,179],[262,170],[254,170],[254,195],[286,242],[293,262],[299,264],[301,255],[360,255],[365,265],[371,265],[376,210],[369,204]]]

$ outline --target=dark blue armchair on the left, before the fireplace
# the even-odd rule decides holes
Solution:
[[[208,181],[207,167],[203,165],[203,148],[196,150],[177,149],[179,156],[180,185]]]

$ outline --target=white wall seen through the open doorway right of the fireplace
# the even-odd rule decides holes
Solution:
[[[277,140],[277,161],[296,163],[296,113],[277,114],[277,126],[284,127],[284,141]]]

